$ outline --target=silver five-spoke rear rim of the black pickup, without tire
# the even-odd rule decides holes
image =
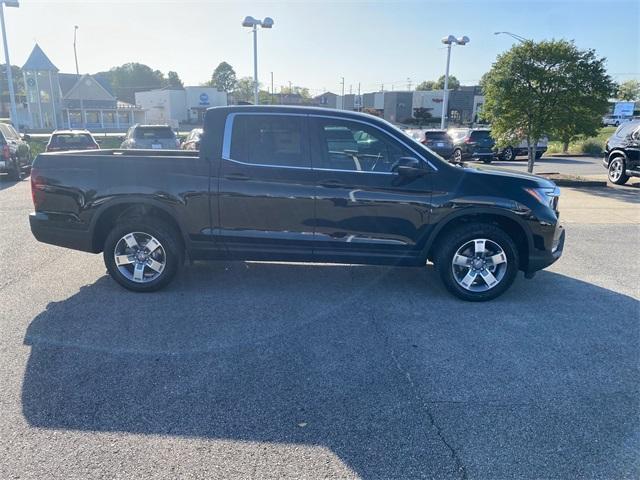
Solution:
[[[137,283],[149,283],[167,265],[167,254],[158,240],[148,233],[128,233],[116,243],[113,257],[120,273]]]

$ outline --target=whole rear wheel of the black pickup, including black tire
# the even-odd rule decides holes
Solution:
[[[150,252],[146,246],[152,240],[158,245],[153,243]],[[131,218],[109,232],[103,257],[109,275],[124,288],[153,292],[171,282],[183,263],[184,250],[179,233],[165,222]]]

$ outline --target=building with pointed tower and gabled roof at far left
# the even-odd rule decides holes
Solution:
[[[38,44],[22,73],[27,112],[18,123],[28,129],[121,129],[145,120],[142,109],[116,99],[105,79],[60,73]]]

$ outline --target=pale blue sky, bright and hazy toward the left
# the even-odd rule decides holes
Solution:
[[[565,38],[607,58],[616,81],[640,79],[640,0],[475,1],[165,1],[20,0],[5,8],[11,63],[22,66],[35,42],[61,72],[75,72],[78,25],[81,73],[140,62],[178,72],[185,85],[211,77],[221,61],[238,77],[253,75],[246,15],[272,17],[258,31],[259,80],[308,87],[312,94],[406,90],[444,73],[443,36],[467,35],[454,46],[451,74],[478,82],[515,42]]]

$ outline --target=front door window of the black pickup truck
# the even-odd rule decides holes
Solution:
[[[402,157],[416,154],[367,124],[312,118],[315,167],[330,170],[391,173]]]

